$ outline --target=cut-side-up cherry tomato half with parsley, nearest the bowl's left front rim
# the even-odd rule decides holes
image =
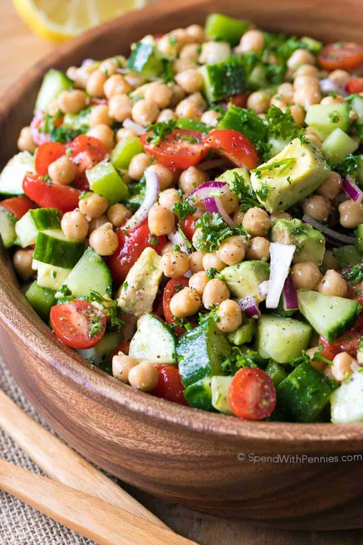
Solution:
[[[106,330],[104,315],[81,299],[53,306],[50,323],[58,339],[70,348],[92,348],[100,342]],[[92,328],[96,329],[94,334]]]

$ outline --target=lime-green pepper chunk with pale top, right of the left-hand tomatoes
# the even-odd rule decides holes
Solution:
[[[104,159],[98,165],[86,171],[90,189],[102,195],[108,204],[116,204],[129,195],[128,186],[119,176],[110,159]]]

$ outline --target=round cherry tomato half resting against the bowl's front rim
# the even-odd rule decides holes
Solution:
[[[262,369],[244,367],[233,377],[228,401],[236,416],[245,420],[263,420],[275,409],[276,389]]]

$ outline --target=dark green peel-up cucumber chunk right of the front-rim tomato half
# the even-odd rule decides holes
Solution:
[[[313,422],[337,386],[335,380],[329,380],[310,364],[300,364],[277,386],[276,407],[294,422]]]

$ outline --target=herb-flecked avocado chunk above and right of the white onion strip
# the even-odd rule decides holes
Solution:
[[[280,244],[295,244],[294,263],[310,261],[316,265],[323,263],[325,238],[317,229],[301,220],[277,220],[271,229],[271,240]]]

